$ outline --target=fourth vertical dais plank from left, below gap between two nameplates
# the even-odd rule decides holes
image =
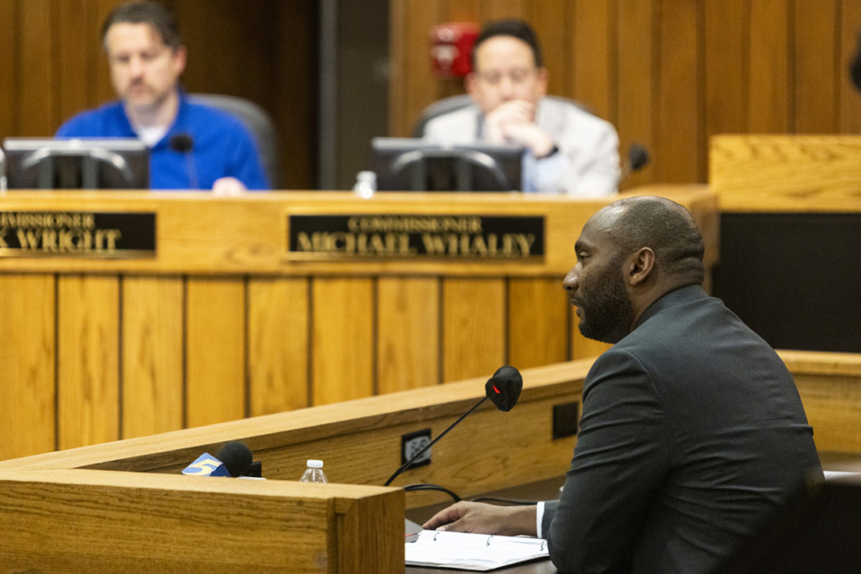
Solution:
[[[194,278],[186,290],[186,424],[241,419],[247,415],[245,284]]]

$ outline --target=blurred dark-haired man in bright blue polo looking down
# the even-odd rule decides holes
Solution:
[[[119,100],[84,111],[59,137],[138,137],[150,148],[153,189],[268,189],[254,139],[239,119],[195,103],[179,86],[186,48],[160,4],[118,6],[102,25]]]

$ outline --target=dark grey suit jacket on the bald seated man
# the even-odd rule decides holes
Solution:
[[[813,430],[783,361],[691,285],[589,371],[542,534],[565,572],[710,572],[812,469]]]

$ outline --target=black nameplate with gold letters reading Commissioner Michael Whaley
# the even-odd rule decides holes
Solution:
[[[290,215],[293,257],[544,257],[544,217],[520,215]]]

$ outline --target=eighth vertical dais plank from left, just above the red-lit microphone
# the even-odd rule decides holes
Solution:
[[[506,362],[505,282],[447,279],[442,289],[443,381],[490,377]]]

